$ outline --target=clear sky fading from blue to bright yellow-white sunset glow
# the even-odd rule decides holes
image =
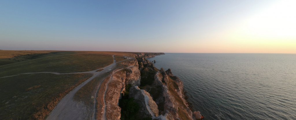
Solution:
[[[1,0],[1,50],[296,53],[295,0]]]

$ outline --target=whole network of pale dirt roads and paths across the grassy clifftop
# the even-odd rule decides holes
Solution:
[[[80,85],[78,85],[77,87],[75,87],[72,91],[70,91],[61,101],[59,101],[59,103],[57,104],[57,106],[54,108],[54,110],[49,114],[49,116],[46,118],[46,120],[85,120],[85,119],[93,119],[95,120],[95,111],[96,111],[96,100],[94,101],[94,107],[91,108],[92,112],[92,117],[89,117],[87,111],[90,108],[87,108],[82,102],[77,102],[73,100],[73,97],[75,95],[75,93],[80,90],[84,85],[86,85],[88,82],[90,82],[91,80],[93,80],[94,78],[98,77],[99,75],[102,75],[104,73],[110,72],[110,70],[114,70],[112,72],[112,74],[116,73],[117,71],[121,70],[121,69],[115,69],[116,68],[116,60],[115,60],[115,55],[112,55],[113,57],[113,63],[103,67],[103,68],[99,68],[96,70],[92,70],[92,71],[87,71],[87,72],[72,72],[72,73],[58,73],[58,72],[31,72],[31,73],[21,73],[21,74],[38,74],[38,73],[50,73],[50,74],[80,74],[80,73],[90,73],[93,74],[92,77],[90,77],[89,79],[87,79],[86,81],[84,81],[83,83],[81,83]],[[126,60],[130,60],[133,59],[131,57],[129,57]],[[123,61],[126,61],[123,60]],[[122,62],[122,61],[119,61]],[[97,72],[98,70],[103,69],[102,71]],[[112,79],[112,74],[111,74],[111,78],[109,80]],[[20,74],[17,74],[20,75]],[[12,75],[12,76],[17,76],[17,75]],[[6,76],[6,77],[12,77],[12,76]],[[4,78],[4,77],[0,77],[0,78]],[[99,83],[99,87],[101,86],[103,80]],[[108,81],[109,83],[110,81]],[[108,84],[107,84],[107,88],[108,88]],[[106,88],[106,89],[107,89]],[[99,89],[98,89],[99,90]],[[106,91],[104,91],[104,97],[106,95]],[[97,91],[99,92],[99,91]],[[94,98],[96,98],[96,95],[94,96]],[[106,101],[104,98],[104,104],[106,106]],[[106,119],[106,108],[104,108],[104,116],[102,119]]]

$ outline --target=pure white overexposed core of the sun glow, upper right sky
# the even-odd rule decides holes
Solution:
[[[279,1],[246,18],[237,30],[237,34],[251,39],[296,38],[296,1]]]

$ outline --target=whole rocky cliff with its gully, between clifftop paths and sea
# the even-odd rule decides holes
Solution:
[[[196,120],[199,112],[189,108],[183,82],[170,69],[157,69],[146,58],[155,53],[139,53],[136,59],[121,63],[104,83],[103,119]],[[103,109],[105,108],[105,109]],[[100,110],[99,110],[100,111]],[[105,114],[105,115],[104,115]],[[100,118],[100,117],[99,117]]]

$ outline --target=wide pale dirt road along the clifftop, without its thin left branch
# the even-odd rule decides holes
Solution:
[[[89,116],[86,115],[87,109],[86,106],[81,102],[76,102],[73,100],[75,93],[81,89],[84,85],[88,82],[93,80],[95,77],[109,72],[110,69],[114,69],[116,67],[115,57],[113,55],[114,63],[105,67],[102,71],[96,72],[91,78],[83,82],[82,84],[78,85],[74,88],[69,94],[67,94],[56,106],[56,108],[49,114],[46,120],[84,120],[88,119]],[[128,60],[128,59],[126,59]],[[123,61],[126,61],[123,60]],[[68,73],[70,74],[70,73]],[[101,82],[102,83],[102,82]],[[100,83],[100,84],[101,84]],[[87,96],[88,97],[88,96]],[[95,111],[95,108],[94,108]],[[94,116],[93,116],[94,118]]]

